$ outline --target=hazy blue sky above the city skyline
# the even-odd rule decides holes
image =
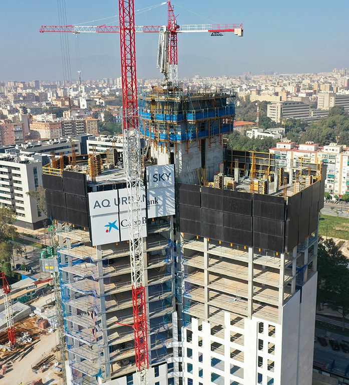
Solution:
[[[0,3],[0,81],[62,79],[60,36],[39,33],[43,24],[60,24],[57,1]],[[135,8],[160,3],[135,0]],[[179,14],[179,25],[244,25],[243,38],[232,33],[224,37],[179,35],[179,77],[349,68],[348,0],[173,0],[172,4]],[[116,0],[66,0],[66,9],[68,24],[119,24]],[[167,6],[136,13],[136,25],[163,25],[166,20]],[[78,70],[76,39],[69,34],[73,78],[77,78]],[[118,34],[81,34],[78,39],[83,79],[120,76]],[[156,34],[137,34],[136,44],[138,77],[158,77]]]

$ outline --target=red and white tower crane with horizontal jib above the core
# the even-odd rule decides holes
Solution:
[[[164,26],[135,26],[135,32],[159,33],[157,68],[164,74],[164,81],[175,85],[178,83],[178,34],[206,32],[211,36],[223,36],[225,32],[233,32],[243,36],[243,24],[188,24],[178,25],[177,16],[171,1],[167,4],[167,25]],[[40,32],[61,33],[120,33],[120,26],[41,26]]]

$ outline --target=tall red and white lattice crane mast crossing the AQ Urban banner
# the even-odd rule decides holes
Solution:
[[[128,226],[132,282],[136,373],[148,384],[148,337],[142,237],[142,165],[138,125],[134,0],[119,0],[124,168],[128,195]]]

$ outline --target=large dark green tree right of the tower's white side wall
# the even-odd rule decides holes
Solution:
[[[327,304],[342,316],[343,330],[345,317],[349,315],[349,270],[344,257],[333,239],[320,238],[317,254],[317,303]]]

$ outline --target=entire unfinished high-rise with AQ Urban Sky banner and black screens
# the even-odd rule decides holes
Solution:
[[[324,167],[227,148],[224,90],[154,87],[139,105],[149,384],[308,385]],[[126,180],[109,157],[43,169],[74,385],[137,383]]]

